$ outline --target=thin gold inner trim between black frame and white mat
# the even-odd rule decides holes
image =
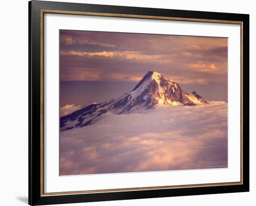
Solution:
[[[206,22],[206,23],[240,25],[240,181],[209,183],[209,184],[190,184],[190,185],[157,186],[157,187],[131,187],[131,188],[118,188],[118,189],[44,193],[44,13],[135,18],[135,19],[158,19],[158,20],[174,20],[174,21],[190,21],[190,22]],[[40,149],[40,195],[41,196],[242,185],[243,184],[243,21],[217,20],[217,19],[192,19],[192,18],[144,16],[144,15],[119,14],[119,13],[94,13],[94,12],[76,12],[76,11],[41,9],[40,10],[40,148],[41,148]]]

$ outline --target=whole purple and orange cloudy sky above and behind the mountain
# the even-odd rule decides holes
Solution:
[[[228,100],[228,39],[60,30],[61,107],[101,103],[157,71],[187,92]]]

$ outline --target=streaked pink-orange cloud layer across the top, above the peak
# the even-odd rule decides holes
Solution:
[[[181,84],[227,82],[227,38],[69,30],[60,38],[61,81],[135,81],[158,71]]]

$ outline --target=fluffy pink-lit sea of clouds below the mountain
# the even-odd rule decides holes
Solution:
[[[60,175],[228,167],[228,104],[106,113],[60,133]]]

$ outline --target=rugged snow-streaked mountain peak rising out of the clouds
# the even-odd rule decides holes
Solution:
[[[182,90],[179,84],[169,81],[162,74],[148,71],[135,88],[123,96],[104,103],[90,104],[61,117],[60,128],[65,131],[85,127],[97,122],[106,112],[120,115],[141,113],[153,109],[156,104],[193,106],[208,103],[195,91],[189,94]]]

